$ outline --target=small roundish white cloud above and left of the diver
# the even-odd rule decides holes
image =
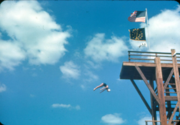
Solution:
[[[77,79],[80,75],[79,67],[72,61],[65,62],[63,66],[60,66],[60,70],[65,78]]]

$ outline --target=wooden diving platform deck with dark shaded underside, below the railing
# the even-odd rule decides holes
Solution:
[[[155,77],[155,63],[143,63],[143,62],[123,62],[120,79],[134,79],[134,80],[142,80],[135,66],[139,66],[142,72],[144,73],[147,80],[156,80]],[[163,72],[163,80],[166,81],[171,69],[173,68],[172,63],[162,63],[162,72]],[[178,64],[180,71],[180,64]],[[171,83],[174,83],[174,78],[172,77],[170,80]]]

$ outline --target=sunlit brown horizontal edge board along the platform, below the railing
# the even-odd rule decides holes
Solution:
[[[145,67],[156,67],[155,63],[143,63],[143,62],[123,62],[123,66],[145,66]],[[172,63],[162,63],[161,67],[173,68]],[[178,64],[180,68],[180,64]]]

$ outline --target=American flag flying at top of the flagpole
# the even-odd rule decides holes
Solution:
[[[128,17],[130,22],[144,22],[145,23],[145,11],[134,11]]]

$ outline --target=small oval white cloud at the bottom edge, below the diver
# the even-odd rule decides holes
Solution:
[[[107,114],[101,118],[101,120],[104,123],[110,124],[110,125],[120,125],[125,122],[121,117],[119,117],[119,114]]]

